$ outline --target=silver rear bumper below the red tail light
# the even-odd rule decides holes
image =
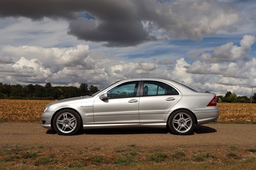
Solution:
[[[197,125],[210,123],[218,120],[220,110],[216,106],[193,109]]]

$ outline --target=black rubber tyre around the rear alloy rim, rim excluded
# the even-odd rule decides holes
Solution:
[[[173,118],[177,115],[177,114],[180,114],[180,113],[186,113],[188,114],[190,117],[191,117],[191,121],[192,121],[192,126],[191,128],[187,131],[187,132],[178,132],[174,127],[173,127],[173,124],[172,124],[172,121],[173,121]],[[195,129],[195,118],[193,116],[193,114],[187,110],[179,110],[179,111],[175,111],[172,113],[172,115],[170,116],[169,120],[168,120],[168,126],[170,128],[170,132],[172,134],[175,134],[175,135],[189,135],[189,134],[192,134],[193,130]]]

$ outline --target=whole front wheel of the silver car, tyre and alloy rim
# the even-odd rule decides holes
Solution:
[[[59,135],[74,135],[81,129],[81,118],[77,112],[65,109],[54,116],[53,127]]]

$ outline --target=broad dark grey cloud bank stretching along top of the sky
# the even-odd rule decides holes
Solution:
[[[1,0],[0,17],[68,19],[68,34],[109,47],[156,40],[159,29],[202,40],[239,20],[234,6],[214,0]]]

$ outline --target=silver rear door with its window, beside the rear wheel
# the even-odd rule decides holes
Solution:
[[[159,81],[143,81],[140,97],[140,122],[163,122],[166,114],[182,97],[172,86]],[[142,90],[141,90],[142,91]]]

